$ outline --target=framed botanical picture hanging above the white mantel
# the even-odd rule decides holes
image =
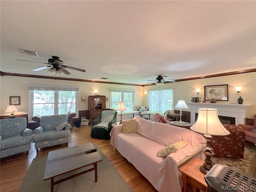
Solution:
[[[228,101],[228,84],[204,86],[204,100]]]

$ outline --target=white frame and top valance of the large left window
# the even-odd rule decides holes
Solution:
[[[76,114],[78,114],[78,94],[79,87],[74,86],[48,86],[48,85],[28,85],[29,109],[28,119],[34,116],[34,90],[52,90],[54,91],[54,114],[58,114],[58,97],[59,91],[75,91],[76,92]]]

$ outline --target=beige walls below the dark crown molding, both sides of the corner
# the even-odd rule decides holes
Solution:
[[[42,78],[0,76],[1,115],[7,115],[4,113],[4,111],[6,110],[6,106],[9,104],[9,96],[20,96],[21,98],[20,106],[16,106],[19,112],[16,112],[15,114],[28,114],[28,84],[79,86],[79,110],[88,110],[88,96],[94,95],[94,89],[98,90],[99,95],[105,95],[106,97],[110,97],[110,88],[134,89],[135,106],[148,106],[148,94],[144,95],[144,91],[159,89],[159,87],[156,85],[142,87]],[[186,102],[190,102],[191,97],[201,97],[201,100],[204,100],[204,86],[220,84],[228,84],[229,101],[223,101],[223,103],[237,104],[237,99],[239,98],[239,96],[242,96],[242,98],[244,99],[243,104],[252,104],[252,106],[248,108],[246,118],[252,118],[253,115],[256,114],[256,72],[166,83],[160,86],[160,89],[174,88],[174,103],[176,104],[181,98]],[[240,93],[236,92],[234,86],[243,86],[242,91]],[[199,94],[196,93],[195,88],[201,88]],[[86,97],[85,103],[81,102],[81,97]],[[106,108],[109,107],[110,102],[106,102]],[[184,109],[184,111],[189,111],[189,109]]]

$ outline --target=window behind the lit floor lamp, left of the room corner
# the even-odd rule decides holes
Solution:
[[[110,89],[110,107],[116,109],[118,102],[124,102],[126,109],[132,111],[134,108],[134,93],[135,90]]]

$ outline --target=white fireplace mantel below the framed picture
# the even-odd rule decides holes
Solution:
[[[214,108],[217,109],[218,115],[236,118],[236,125],[245,124],[247,108],[251,104],[228,104],[228,103],[193,103],[186,102],[190,106],[190,123],[195,123],[198,108]]]

